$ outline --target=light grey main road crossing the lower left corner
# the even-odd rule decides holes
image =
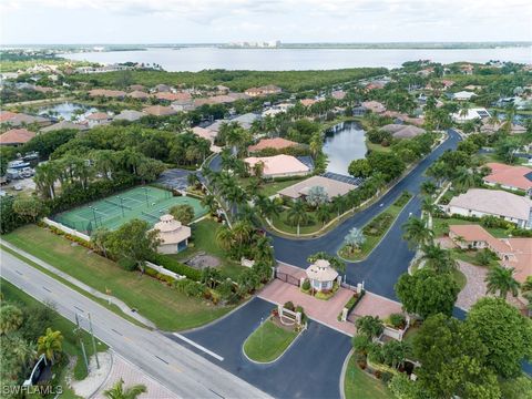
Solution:
[[[137,327],[54,278],[1,250],[1,276],[74,321],[92,317],[95,336],[182,398],[267,398],[268,396],[158,331]],[[88,321],[83,320],[88,327]]]

